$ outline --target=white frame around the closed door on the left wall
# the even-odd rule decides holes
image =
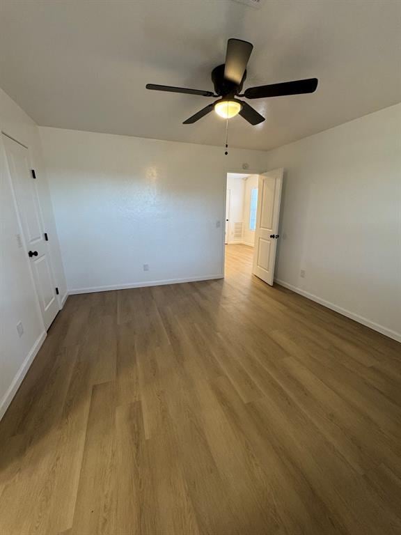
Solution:
[[[11,139],[11,141],[14,141],[15,143],[17,143],[17,144],[21,145],[22,147],[24,147],[28,151],[29,165],[31,166],[31,169],[35,169],[35,165],[33,164],[33,158],[32,158],[32,154],[31,154],[31,148],[29,146],[26,146],[26,144],[22,143],[22,141],[19,141],[18,139],[16,139],[14,136],[11,136],[10,134],[8,134],[8,132],[6,132],[5,130],[0,130],[0,134],[3,134],[4,136],[6,136],[9,139]],[[6,147],[4,146],[2,141],[1,141],[1,150],[4,151],[4,155],[6,157]],[[11,171],[10,171],[10,168],[9,168],[9,165],[8,165],[7,157],[6,157],[6,166],[7,166],[7,169],[8,169],[8,182],[10,184],[10,190],[11,190],[11,194],[13,196],[13,205],[14,205],[14,209],[15,209],[15,214],[17,216],[19,235],[21,236],[22,247],[24,248],[24,252],[25,252],[25,261],[26,261],[26,264],[29,267],[29,274],[30,274],[30,277],[31,277],[31,282],[33,284],[33,290],[34,290],[35,297],[36,297],[36,307],[38,309],[40,322],[42,323],[43,330],[46,332],[47,329],[45,327],[45,319],[43,318],[42,310],[40,309],[40,297],[39,297],[39,294],[38,294],[38,288],[36,287],[36,281],[35,281],[35,277],[33,275],[33,268],[32,268],[31,262],[29,261],[28,247],[26,246],[26,236],[24,234],[24,228],[23,228],[22,222],[21,222],[21,214],[19,212],[17,194],[15,192],[15,184],[14,184],[13,176],[11,174]],[[39,211],[40,211],[40,222],[41,222],[42,226],[45,227],[45,222],[44,222],[44,219],[43,219],[42,204],[40,202],[40,195],[38,195],[38,205],[39,205]],[[54,264],[53,264],[52,250],[50,249],[49,246],[47,246],[47,254],[49,255],[50,276],[52,277],[52,283],[54,284],[54,287],[56,287],[57,283],[56,283],[56,277],[54,276]],[[59,294],[56,294],[56,302],[57,302],[57,305],[58,305],[58,311],[60,311],[63,307],[61,306],[61,296]]]

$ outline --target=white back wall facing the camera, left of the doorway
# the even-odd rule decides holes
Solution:
[[[264,170],[265,152],[40,133],[71,292],[223,275],[226,173]]]

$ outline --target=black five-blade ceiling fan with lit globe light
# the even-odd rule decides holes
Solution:
[[[216,102],[209,104],[201,109],[201,111],[189,117],[187,121],[184,121],[184,125],[196,123],[196,121],[209,114],[213,109],[223,118],[229,119],[239,114],[251,123],[251,125],[258,125],[262,121],[265,121],[265,118],[247,102],[238,100],[237,97],[249,99],[270,98],[281,97],[283,95],[313,93],[316,90],[317,78],[308,78],[305,80],[295,80],[294,82],[282,82],[281,84],[249,87],[244,93],[241,93],[246,79],[246,65],[248,64],[252,49],[253,45],[250,42],[240,39],[228,39],[226,63],[212,70],[212,82],[215,93],[185,87],[159,86],[158,84],[146,84],[146,88],[154,91],[170,91],[171,93],[187,93],[189,95],[201,95],[203,97],[219,97],[219,100],[216,100]]]

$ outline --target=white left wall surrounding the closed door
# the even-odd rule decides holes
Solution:
[[[0,130],[29,148],[33,169],[36,169],[40,203],[45,226],[52,247],[52,263],[56,284],[65,293],[63,265],[58,249],[52,203],[47,189],[42,163],[38,128],[21,108],[0,89]],[[45,339],[31,270],[24,249],[18,246],[19,228],[13,199],[6,154],[0,136],[0,418],[6,411],[15,391],[24,378],[33,357]],[[24,334],[17,334],[17,323],[22,322]]]

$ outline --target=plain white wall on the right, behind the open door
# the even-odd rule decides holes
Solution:
[[[285,168],[276,279],[401,341],[401,104],[267,160]]]

